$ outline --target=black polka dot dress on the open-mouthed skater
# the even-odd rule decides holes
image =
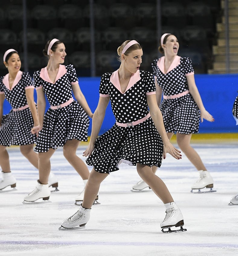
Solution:
[[[175,56],[167,73],[164,72],[164,56],[152,63],[153,74],[166,96],[189,90],[187,75],[194,74],[192,60]],[[200,111],[190,93],[175,99],[163,99],[160,110],[167,133],[197,133]]]

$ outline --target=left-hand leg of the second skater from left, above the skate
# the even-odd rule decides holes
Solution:
[[[54,154],[55,149],[49,149],[47,152],[39,152],[39,181],[41,184],[48,184],[50,173],[50,158]]]

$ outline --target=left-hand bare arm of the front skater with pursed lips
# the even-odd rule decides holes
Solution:
[[[97,139],[98,133],[102,126],[108,103],[109,103],[109,97],[99,97],[97,108],[93,115],[92,133],[90,136],[90,142],[87,149],[84,151],[83,156],[91,155],[91,153],[94,150],[94,143],[95,143],[95,140]]]

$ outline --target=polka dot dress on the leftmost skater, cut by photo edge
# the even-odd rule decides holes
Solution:
[[[34,88],[32,78],[29,73],[18,71],[12,87],[9,87],[9,74],[0,78],[0,94],[5,95],[5,99],[13,109],[27,105],[26,90]],[[29,145],[36,143],[36,136],[30,130],[33,127],[33,118],[30,108],[13,111],[3,115],[0,127],[0,145]]]

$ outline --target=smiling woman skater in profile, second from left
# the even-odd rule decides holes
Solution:
[[[32,128],[32,133],[39,133],[35,147],[39,154],[39,180],[36,188],[24,197],[27,202],[49,199],[50,158],[58,147],[63,147],[65,158],[84,181],[89,176],[88,168],[76,155],[76,150],[80,141],[87,141],[88,116],[93,117],[93,113],[80,90],[75,68],[61,65],[66,56],[64,43],[56,38],[49,40],[43,54],[48,56],[48,64],[33,74],[39,125]],[[72,91],[77,101],[73,99]],[[45,95],[50,104],[46,114]]]

